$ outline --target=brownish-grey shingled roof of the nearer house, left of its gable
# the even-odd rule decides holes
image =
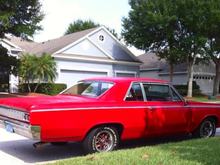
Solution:
[[[48,40],[45,42],[37,43],[33,41],[26,41],[18,37],[8,38],[12,43],[19,46],[25,52],[41,55],[42,53],[53,54],[56,51],[64,48],[65,46],[77,41],[78,39],[86,36],[90,32],[94,31],[96,28],[83,30],[80,32],[68,34],[56,39]]]

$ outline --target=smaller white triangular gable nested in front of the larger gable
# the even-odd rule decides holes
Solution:
[[[102,52],[102,50],[100,50],[95,44],[93,44],[88,39],[84,39],[78,42],[77,44],[64,50],[62,53],[70,54],[70,55],[106,58],[106,59],[109,58],[104,52]]]

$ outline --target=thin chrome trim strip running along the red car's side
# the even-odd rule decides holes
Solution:
[[[32,110],[31,112],[48,112],[48,111],[77,111],[77,110],[103,110],[103,109],[151,109],[151,108],[220,108],[220,106],[176,106],[176,105],[171,105],[171,106],[106,106],[106,107],[87,107],[87,108],[55,108],[55,109],[35,109]]]

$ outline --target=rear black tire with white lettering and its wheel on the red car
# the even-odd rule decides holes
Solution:
[[[118,131],[109,126],[94,128],[83,141],[83,148],[86,153],[112,151],[117,149],[118,145]]]

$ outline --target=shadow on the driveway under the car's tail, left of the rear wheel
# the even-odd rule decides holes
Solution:
[[[84,152],[78,143],[65,145],[51,145],[50,143],[41,148],[34,148],[31,140],[15,140],[0,142],[0,150],[25,163],[50,162],[76,156],[83,156]]]

